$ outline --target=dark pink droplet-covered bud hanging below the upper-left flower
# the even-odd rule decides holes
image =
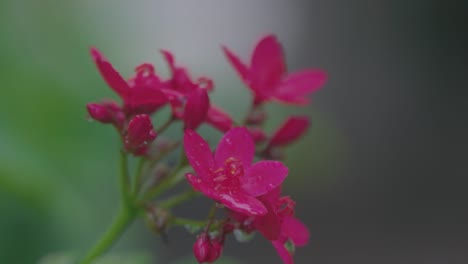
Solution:
[[[125,148],[133,154],[145,155],[149,143],[156,138],[156,132],[153,131],[153,125],[148,115],[136,115],[128,123],[125,134]]]

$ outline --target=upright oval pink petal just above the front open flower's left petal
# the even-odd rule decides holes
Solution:
[[[205,121],[209,107],[210,98],[205,89],[197,89],[191,92],[187,97],[184,110],[184,128],[196,129]]]

